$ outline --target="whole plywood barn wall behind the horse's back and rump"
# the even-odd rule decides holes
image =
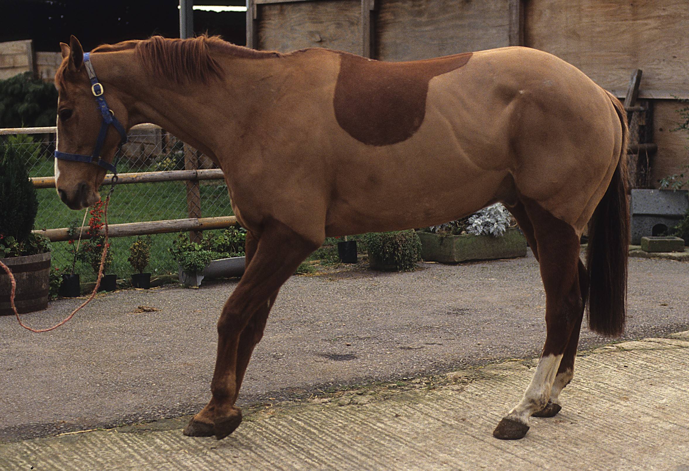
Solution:
[[[688,0],[248,0],[247,44],[323,47],[384,61],[523,44],[572,63],[624,97],[633,69],[655,106],[651,179],[689,163],[677,126],[689,99]],[[369,12],[370,10],[370,12]],[[370,16],[369,16],[370,15]],[[369,37],[372,41],[369,43]],[[367,44],[371,48],[367,49]]]

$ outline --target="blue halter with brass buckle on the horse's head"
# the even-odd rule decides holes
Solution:
[[[105,170],[110,170],[112,174],[116,175],[117,159],[115,159],[113,163],[108,163],[100,157],[101,150],[103,149],[103,142],[105,142],[105,134],[107,134],[107,128],[112,124],[117,132],[120,133],[120,146],[122,146],[123,143],[127,142],[127,132],[125,132],[124,126],[117,121],[115,114],[107,106],[107,102],[105,98],[103,98],[103,85],[101,85],[96,77],[96,72],[93,70],[93,64],[90,61],[90,55],[90,52],[84,52],[84,66],[86,67],[86,72],[88,72],[88,78],[91,80],[91,92],[93,96],[96,97],[96,105],[103,115],[101,131],[98,133],[98,140],[96,141],[96,148],[93,150],[92,155],[68,154],[67,152],[55,150],[55,158],[74,162],[94,163],[97,166],[105,168]]]

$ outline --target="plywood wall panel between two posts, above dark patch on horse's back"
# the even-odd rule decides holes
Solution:
[[[509,46],[507,0],[380,0],[376,59],[409,61]]]

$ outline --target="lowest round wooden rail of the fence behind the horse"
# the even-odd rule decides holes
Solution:
[[[167,219],[164,221],[110,224],[108,226],[108,234],[110,237],[128,237],[146,234],[165,234],[168,232],[227,229],[236,225],[237,219],[234,216]],[[69,228],[34,230],[33,232],[34,234],[41,234],[48,237],[51,242],[60,242],[78,239],[80,230],[82,232],[81,239],[90,239],[90,236],[86,233],[88,231],[88,226],[76,228],[76,235],[72,236],[69,234]],[[101,233],[103,232],[101,231]]]

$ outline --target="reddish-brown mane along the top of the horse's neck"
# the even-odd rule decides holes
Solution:
[[[102,44],[92,52],[116,52],[136,50],[136,57],[155,78],[174,83],[203,82],[212,77],[221,78],[223,70],[210,52],[220,52],[247,59],[268,59],[282,57],[279,52],[257,51],[236,46],[219,36],[200,36],[179,39],[153,36],[141,41],[123,41],[116,44]],[[58,74],[59,79],[62,74]]]

